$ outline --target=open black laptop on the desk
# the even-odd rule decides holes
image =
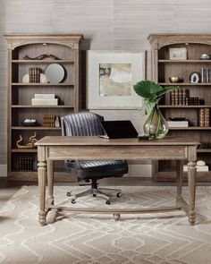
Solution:
[[[137,138],[139,133],[130,120],[102,121],[106,135],[100,136],[105,139],[129,139]]]

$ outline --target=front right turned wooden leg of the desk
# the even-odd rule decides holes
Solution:
[[[194,225],[196,222],[195,199],[196,199],[196,162],[188,163],[188,182],[189,182],[189,222]]]

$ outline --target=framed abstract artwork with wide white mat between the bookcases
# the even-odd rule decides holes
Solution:
[[[89,50],[87,108],[137,109],[133,84],[145,80],[145,51]]]

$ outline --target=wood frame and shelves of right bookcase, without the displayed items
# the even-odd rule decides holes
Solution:
[[[171,117],[185,117],[190,121],[188,128],[172,128],[169,131],[170,135],[180,136],[189,141],[190,138],[201,142],[211,141],[211,123],[209,126],[199,126],[199,109],[211,109],[211,92],[210,83],[199,81],[198,83],[190,83],[191,72],[201,72],[201,69],[209,69],[211,67],[211,60],[202,60],[202,54],[211,54],[211,34],[208,33],[160,33],[151,34],[148,36],[151,44],[151,66],[152,66],[152,79],[162,86],[172,85],[169,81],[171,76],[179,76],[183,79],[180,83],[173,83],[183,89],[189,89],[190,97],[199,98],[199,106],[173,106],[171,105],[170,94],[165,95],[164,105],[161,110],[166,120]],[[187,49],[187,59],[184,60],[170,60],[169,48],[170,47],[185,47]],[[210,110],[211,111],[211,110]],[[211,166],[210,149],[198,149],[198,160],[203,159],[207,166]],[[191,155],[191,151],[190,151]],[[195,155],[193,153],[193,155]],[[173,162],[158,162],[154,163],[153,175],[156,181],[164,181],[163,175],[170,170],[172,174],[165,177],[165,181],[171,179],[176,180],[175,163]],[[185,175],[185,174],[184,174]],[[198,174],[198,182],[211,181],[211,172],[201,172]]]

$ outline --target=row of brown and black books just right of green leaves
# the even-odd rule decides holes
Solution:
[[[173,106],[198,106],[199,98],[190,98],[190,90],[185,88],[174,89],[170,93],[170,101]]]

